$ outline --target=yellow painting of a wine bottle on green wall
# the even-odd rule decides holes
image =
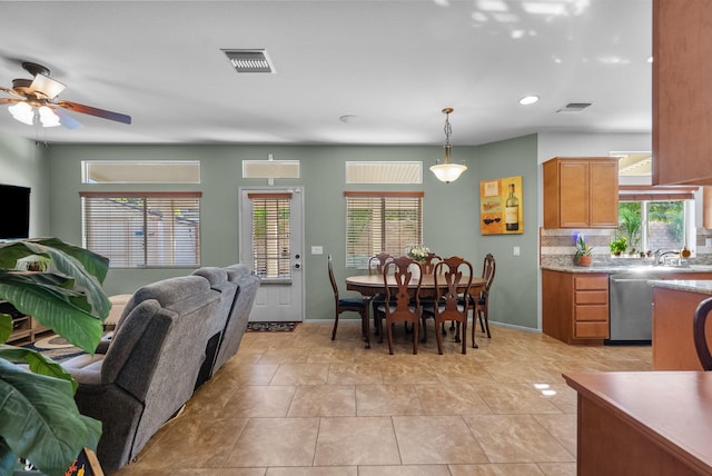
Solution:
[[[522,176],[479,182],[482,235],[523,234]]]

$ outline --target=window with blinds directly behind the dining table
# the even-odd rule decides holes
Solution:
[[[423,192],[346,191],[346,267],[366,268],[385,251],[423,242]]]

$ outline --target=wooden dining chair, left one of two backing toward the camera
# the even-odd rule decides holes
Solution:
[[[386,320],[385,333],[388,336],[388,353],[390,355],[393,355],[393,325],[396,323],[409,323],[413,325],[413,354],[418,353],[423,272],[421,272],[417,280],[411,282],[413,275],[408,269],[409,266],[421,268],[419,262],[407,256],[393,258],[384,267],[383,280],[386,289],[386,299],[378,306],[378,313],[374,316],[374,319],[380,321],[382,318],[385,318]],[[388,282],[390,279],[395,279],[395,285]],[[415,284],[416,287],[409,289],[408,286],[411,284]],[[380,323],[378,323],[378,327],[380,328],[380,341],[383,341],[384,328]]]

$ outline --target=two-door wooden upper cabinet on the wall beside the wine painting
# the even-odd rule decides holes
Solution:
[[[617,226],[617,159],[557,157],[544,162],[544,228]]]

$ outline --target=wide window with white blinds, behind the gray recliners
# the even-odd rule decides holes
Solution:
[[[80,192],[83,246],[112,268],[200,266],[200,192]]]

